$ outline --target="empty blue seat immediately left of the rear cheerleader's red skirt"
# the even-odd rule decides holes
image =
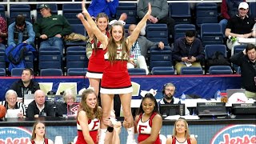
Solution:
[[[66,49],[66,69],[88,67],[85,46],[70,46]]]

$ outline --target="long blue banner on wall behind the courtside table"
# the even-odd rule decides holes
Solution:
[[[133,76],[132,82],[138,83],[140,90],[158,90],[156,98],[162,98],[162,86],[167,82],[172,82],[176,86],[175,97],[184,94],[197,94],[202,98],[214,98],[217,90],[240,88],[240,75],[205,75],[205,76]],[[11,84],[18,78],[0,78],[0,101],[5,98],[5,93]],[[58,90],[60,82],[77,82],[77,90],[89,86],[88,78],[84,77],[36,77],[36,82],[53,82],[53,90]],[[139,93],[138,93],[139,94]],[[133,97],[134,99],[141,98]]]

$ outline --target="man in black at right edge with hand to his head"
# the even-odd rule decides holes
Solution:
[[[248,44],[245,50],[234,54],[230,61],[241,67],[241,87],[246,89],[246,97],[256,99],[256,46]]]

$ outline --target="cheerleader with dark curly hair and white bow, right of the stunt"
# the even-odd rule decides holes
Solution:
[[[153,94],[148,93],[142,98],[134,123],[138,132],[138,143],[161,144],[159,134],[162,117],[158,112],[158,102]]]

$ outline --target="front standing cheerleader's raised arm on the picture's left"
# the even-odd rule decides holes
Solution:
[[[98,38],[98,41],[102,42],[103,50],[105,50],[108,44],[108,38],[104,34],[102,34],[94,20],[90,17],[90,14],[86,10],[85,0],[83,0],[82,2],[82,14],[86,16],[87,22],[90,25],[90,30],[95,34],[96,38]]]

